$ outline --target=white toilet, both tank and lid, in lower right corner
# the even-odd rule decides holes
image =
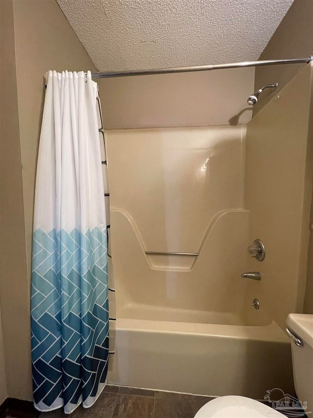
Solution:
[[[291,338],[293,380],[297,396],[313,416],[313,315],[290,314],[286,329]],[[287,394],[286,394],[287,395]],[[278,399],[277,399],[278,400]],[[275,405],[273,404],[273,407]],[[197,412],[195,418],[285,417],[278,409],[245,396],[215,398]],[[298,415],[300,417],[300,414]]]

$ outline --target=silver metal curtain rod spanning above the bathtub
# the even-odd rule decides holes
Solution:
[[[112,73],[93,73],[92,78],[128,77],[130,75],[151,75],[170,73],[190,73],[192,71],[222,70],[224,68],[259,67],[276,64],[308,64],[313,61],[313,55],[306,58],[269,59],[264,61],[233,62],[231,64],[197,65],[194,67],[156,68],[152,70],[116,71]]]

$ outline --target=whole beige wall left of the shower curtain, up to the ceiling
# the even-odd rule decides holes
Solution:
[[[44,74],[95,68],[55,0],[6,0],[1,7],[0,302],[8,396],[30,400],[31,237]]]

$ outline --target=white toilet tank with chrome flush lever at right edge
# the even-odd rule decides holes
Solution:
[[[313,315],[290,314],[287,332],[291,337],[294,387],[298,399],[313,416]],[[291,335],[292,334],[292,335]],[[297,337],[300,341],[297,341]],[[302,344],[297,345],[297,344]],[[305,404],[306,402],[306,404]],[[310,414],[311,413],[311,414]]]

